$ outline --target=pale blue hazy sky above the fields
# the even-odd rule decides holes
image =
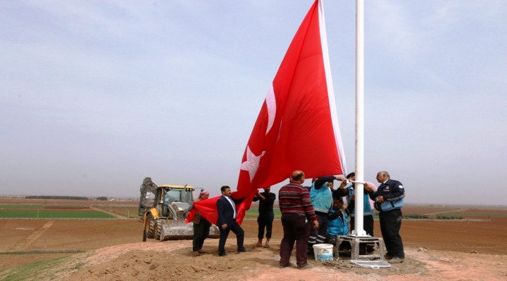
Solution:
[[[137,197],[145,176],[234,187],[312,3],[0,1],[0,195]],[[355,4],[324,2],[348,172]],[[389,171],[409,203],[505,204],[506,14],[365,1],[366,181]]]

